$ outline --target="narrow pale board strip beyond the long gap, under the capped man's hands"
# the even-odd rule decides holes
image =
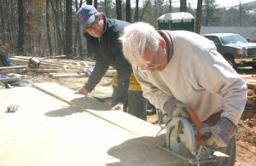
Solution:
[[[33,86],[37,89],[44,90],[45,93],[54,95],[60,100],[64,100],[72,105],[78,106],[83,109],[84,112],[89,112],[97,117],[108,119],[111,123],[118,124],[129,131],[135,132],[137,135],[154,136],[160,130],[159,126],[147,123],[125,112],[110,111],[110,108],[108,110],[104,110],[105,112],[98,112],[98,109],[91,108],[88,106],[88,102],[84,102],[84,100],[88,100],[88,97],[82,94],[74,94],[73,90],[59,86],[57,83],[35,83]],[[84,98],[84,100],[74,100],[78,98]],[[138,128],[138,126],[140,126],[140,128]]]

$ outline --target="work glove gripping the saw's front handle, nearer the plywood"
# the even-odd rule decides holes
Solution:
[[[190,121],[190,116],[188,112],[188,106],[185,106],[181,102],[177,102],[176,106],[173,105],[173,100],[167,100],[164,105],[164,111],[172,117],[184,117]]]

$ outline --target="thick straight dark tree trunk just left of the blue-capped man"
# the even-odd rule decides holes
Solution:
[[[66,50],[65,54],[72,54],[72,0],[66,1]]]

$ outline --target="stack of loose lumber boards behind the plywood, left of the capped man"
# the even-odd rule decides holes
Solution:
[[[9,60],[13,64],[28,65],[32,57],[12,56]],[[40,61],[38,68],[26,68],[27,71],[49,73],[50,77],[86,77],[84,70],[90,66],[95,66],[95,61],[84,60],[64,60],[47,59],[36,57]],[[110,67],[105,76],[113,76],[115,70]]]

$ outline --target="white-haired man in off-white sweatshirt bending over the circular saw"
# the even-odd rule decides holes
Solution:
[[[210,133],[206,146],[230,155],[212,165],[234,165],[247,85],[214,43],[191,31],[156,31],[143,22],[125,26],[119,39],[144,97],[171,118],[189,118],[187,108],[195,110],[204,124],[201,135]]]

